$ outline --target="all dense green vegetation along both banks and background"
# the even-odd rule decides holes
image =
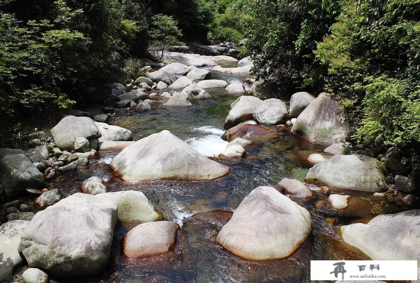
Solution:
[[[420,0],[3,0],[2,132],[142,73],[151,45],[237,44],[289,95],[339,100],[369,145],[420,142]],[[159,59],[159,54],[156,54]],[[161,55],[161,54],[160,54]],[[34,115],[36,113],[36,115]]]

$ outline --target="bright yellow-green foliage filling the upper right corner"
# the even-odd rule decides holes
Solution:
[[[316,56],[359,142],[420,142],[420,1],[344,1]]]

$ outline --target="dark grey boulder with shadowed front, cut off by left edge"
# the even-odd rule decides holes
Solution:
[[[0,160],[0,196],[16,196],[26,188],[39,188],[44,178],[24,154],[6,155]]]

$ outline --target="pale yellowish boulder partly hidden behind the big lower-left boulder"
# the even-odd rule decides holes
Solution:
[[[121,222],[150,222],[163,219],[162,214],[142,192],[124,190],[121,192],[101,193],[96,196],[117,204],[118,219]]]

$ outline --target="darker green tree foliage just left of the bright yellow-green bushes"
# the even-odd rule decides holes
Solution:
[[[243,53],[253,59],[257,77],[281,83],[288,93],[297,87],[321,90],[324,70],[312,50],[339,9],[334,0],[252,1]]]

